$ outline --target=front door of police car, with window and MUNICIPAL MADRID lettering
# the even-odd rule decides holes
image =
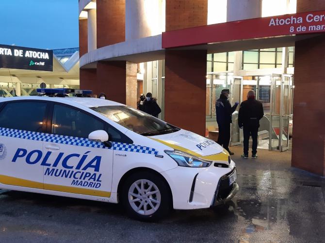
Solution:
[[[44,188],[86,196],[110,197],[113,149],[88,135],[106,123],[83,109],[52,102],[44,141]]]

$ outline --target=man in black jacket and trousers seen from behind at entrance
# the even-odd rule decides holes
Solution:
[[[263,105],[255,99],[255,91],[248,91],[247,100],[243,101],[238,114],[238,125],[244,132],[244,154],[248,158],[248,141],[252,136],[252,158],[257,158],[257,135],[260,127],[260,119],[264,116]]]

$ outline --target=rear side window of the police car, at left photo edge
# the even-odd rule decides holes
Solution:
[[[7,103],[0,112],[0,127],[42,132],[46,102]]]

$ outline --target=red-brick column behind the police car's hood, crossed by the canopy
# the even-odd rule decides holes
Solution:
[[[166,31],[207,25],[208,0],[166,0]],[[207,51],[165,51],[164,119],[205,136]]]

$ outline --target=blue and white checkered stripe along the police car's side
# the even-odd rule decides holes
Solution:
[[[2,127],[0,127],[0,136],[15,137],[15,138],[44,141],[44,142],[51,142],[51,143],[61,143],[66,145],[75,145],[75,146],[90,147],[90,148],[113,149],[113,150],[126,151],[126,152],[158,154],[158,151],[156,151],[153,148],[144,147],[135,144],[113,142],[112,148],[108,148],[102,142],[91,141],[88,138],[29,132],[29,131],[23,131],[17,129],[2,128]]]

